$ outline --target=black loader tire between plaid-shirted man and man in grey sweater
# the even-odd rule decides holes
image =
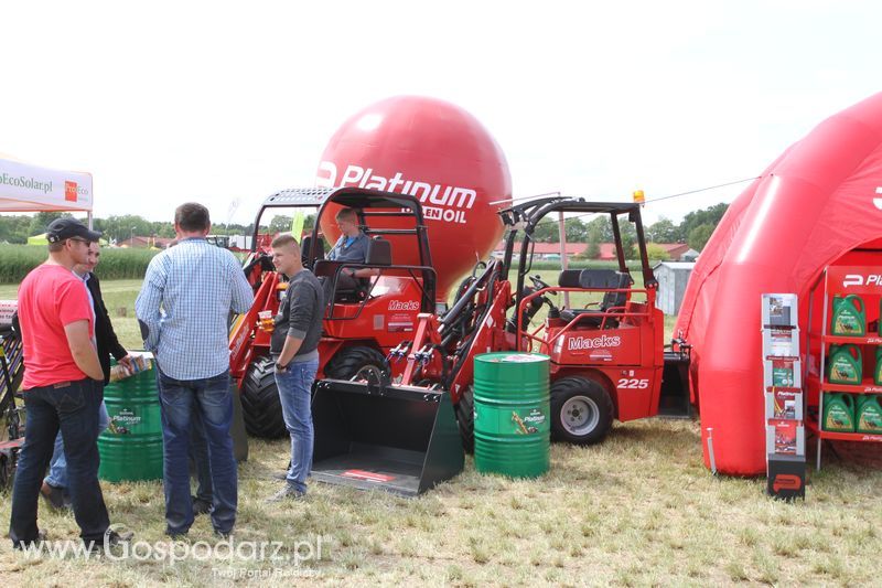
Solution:
[[[258,357],[248,367],[241,384],[241,411],[248,435],[265,439],[288,436],[271,357]]]

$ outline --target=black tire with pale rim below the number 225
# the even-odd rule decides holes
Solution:
[[[613,399],[599,382],[571,376],[551,384],[553,441],[599,443],[613,426]]]

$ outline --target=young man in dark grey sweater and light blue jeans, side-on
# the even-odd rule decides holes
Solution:
[[[303,267],[300,245],[290,234],[283,233],[272,239],[272,264],[289,279],[270,339],[282,417],[291,435],[291,466],[284,488],[269,499],[279,502],[300,499],[306,493],[313,443],[310,400],[319,371],[324,300],[322,285]]]

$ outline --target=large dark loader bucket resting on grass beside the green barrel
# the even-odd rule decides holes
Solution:
[[[463,469],[447,391],[322,379],[312,420],[321,482],[416,496]]]

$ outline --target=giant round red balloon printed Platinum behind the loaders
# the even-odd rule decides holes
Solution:
[[[487,258],[503,234],[496,211],[512,201],[508,163],[484,126],[458,106],[417,96],[381,100],[346,120],[322,154],[316,184],[418,196],[440,301]],[[333,214],[321,228],[332,243],[340,236]],[[390,240],[396,264],[418,263],[412,240]]]

